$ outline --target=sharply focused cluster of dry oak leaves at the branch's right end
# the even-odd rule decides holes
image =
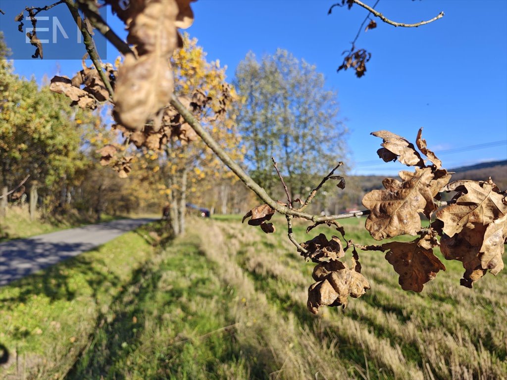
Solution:
[[[360,274],[356,248],[365,251],[385,252],[386,260],[399,275],[404,290],[421,292],[424,284],[435,278],[445,265],[433,253],[440,246],[448,260],[459,260],[465,272],[461,285],[471,288],[486,272],[497,275],[503,269],[502,254],[507,243],[507,193],[491,180],[460,180],[449,183],[451,174],[442,168],[442,162],[427,148],[418,131],[415,145],[389,131],[373,132],[383,139],[377,151],[385,162],[399,161],[414,166],[414,171],[401,171],[400,179],[386,178],[385,189],[373,190],[363,198],[363,205],[370,210],[366,229],[375,240],[400,235],[417,236],[410,242],[388,242],[381,245],[361,246],[340,238],[328,240],[324,234],[300,244],[299,250],[307,260],[316,262],[313,279],[308,289],[308,310],[314,314],[322,306],[346,307],[348,296],[365,294],[370,285]],[[426,164],[426,160],[429,162]],[[456,192],[447,206],[439,209],[440,193]],[[246,217],[251,225],[263,225],[273,215],[268,205],[250,210]],[[421,216],[434,221],[422,228]],[[434,218],[433,218],[434,217]],[[308,227],[307,233],[318,224]],[[345,239],[345,231],[334,224]],[[270,223],[271,224],[271,223]],[[266,231],[264,228],[263,230]],[[274,227],[272,229],[274,231]],[[440,241],[438,240],[440,237]],[[352,265],[343,260],[352,250]]]

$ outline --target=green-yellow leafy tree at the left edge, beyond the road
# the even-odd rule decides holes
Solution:
[[[4,59],[8,50],[1,36],[0,41],[0,183],[11,188],[29,174],[28,185],[39,187],[52,209],[66,198],[76,170],[86,165],[77,127],[94,116],[70,107],[47,86],[15,75]]]

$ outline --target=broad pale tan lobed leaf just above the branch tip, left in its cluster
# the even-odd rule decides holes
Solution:
[[[419,212],[434,210],[430,181],[430,168],[416,168],[415,173],[401,171],[400,182],[386,178],[385,190],[373,190],[363,198],[363,205],[371,213],[366,220],[366,229],[376,240],[398,235],[417,235],[421,229]]]

